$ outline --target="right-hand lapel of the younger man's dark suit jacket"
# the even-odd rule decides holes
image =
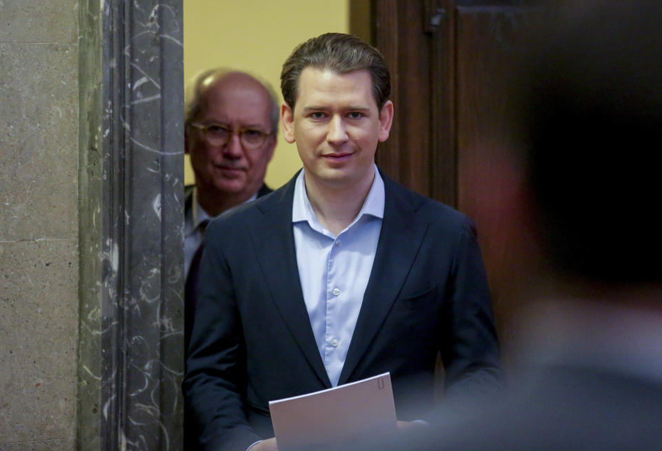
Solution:
[[[428,229],[428,223],[418,221],[415,215],[418,204],[412,204],[412,201],[420,203],[419,198],[406,196],[402,187],[384,174],[382,177],[385,206],[377,253],[339,384],[348,381],[374,335],[379,331],[400,293]]]

